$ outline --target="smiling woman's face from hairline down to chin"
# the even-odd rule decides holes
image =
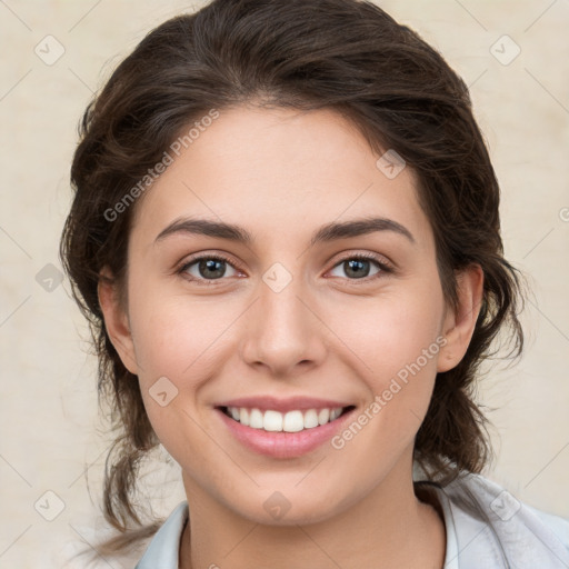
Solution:
[[[101,305],[189,496],[296,523],[410,478],[471,329],[411,169],[378,158],[333,111],[238,108],[137,204],[126,310]]]

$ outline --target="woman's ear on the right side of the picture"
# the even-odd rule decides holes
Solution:
[[[471,264],[457,274],[457,308],[447,308],[443,333],[447,343],[439,352],[437,371],[448,371],[465,357],[480,312],[485,274],[479,264]]]

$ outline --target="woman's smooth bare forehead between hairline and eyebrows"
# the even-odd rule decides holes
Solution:
[[[333,110],[221,110],[186,146],[138,204],[134,232],[156,238],[192,216],[269,238],[371,214],[411,226],[419,238],[430,231],[412,170],[386,176],[380,154]]]

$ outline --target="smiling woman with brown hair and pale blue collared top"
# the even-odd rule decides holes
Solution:
[[[461,79],[355,0],[214,0],[86,111],[62,258],[121,433],[187,501],[139,569],[568,567],[569,522],[479,473],[472,387],[520,277]],[[415,468],[413,468],[415,467]],[[415,471],[415,477],[413,477]],[[129,531],[127,531],[129,530]]]

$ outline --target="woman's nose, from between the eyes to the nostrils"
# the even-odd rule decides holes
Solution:
[[[261,281],[247,318],[241,357],[249,366],[286,378],[323,361],[326,326],[301,279],[292,279],[278,292]]]

